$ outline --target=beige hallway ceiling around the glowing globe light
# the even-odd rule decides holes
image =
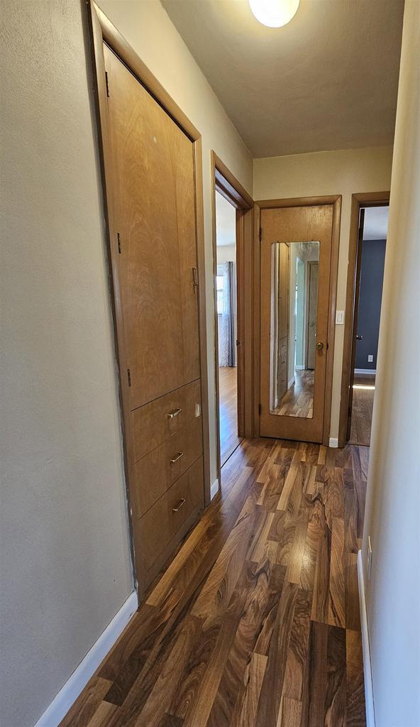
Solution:
[[[392,144],[403,0],[161,0],[254,158]]]

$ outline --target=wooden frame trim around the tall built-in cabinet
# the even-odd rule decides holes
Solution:
[[[201,369],[201,407],[203,422],[203,475],[204,475],[204,502],[210,502],[210,454],[209,454],[209,392],[207,380],[207,345],[206,345],[206,299],[205,299],[205,252],[204,252],[204,222],[203,222],[203,167],[201,151],[201,134],[187,119],[185,113],[171,98],[153,73],[143,63],[140,57],[127,43],[121,33],[114,27],[105,13],[94,0],[85,0],[89,34],[91,39],[92,68],[94,75],[94,103],[97,121],[98,146],[100,153],[100,176],[102,184],[102,202],[105,219],[105,236],[108,256],[108,282],[110,286],[110,306],[113,316],[113,333],[115,342],[115,355],[118,364],[118,397],[121,411],[121,440],[124,452],[124,470],[126,481],[126,497],[128,501],[127,518],[130,531],[130,547],[134,580],[137,579],[137,567],[134,558],[133,526],[131,508],[129,505],[129,448],[132,441],[131,417],[129,398],[126,387],[121,385],[121,371],[126,371],[126,350],[123,336],[121,300],[118,289],[118,252],[116,249],[116,225],[113,210],[113,163],[109,135],[108,116],[108,81],[105,74],[105,61],[103,44],[116,54],[126,65],[133,76],[140,81],[143,87],[158,102],[166,113],[174,119],[175,123],[193,142],[194,156],[194,183],[195,183],[195,233],[197,240],[198,263],[198,316],[200,330],[200,369]],[[196,513],[193,513],[196,516]],[[191,518],[191,525],[193,518]],[[168,553],[169,555],[169,553]],[[144,595],[142,582],[138,585],[140,597]]]

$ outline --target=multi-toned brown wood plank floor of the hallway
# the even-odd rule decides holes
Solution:
[[[61,727],[363,727],[367,457],[243,441]]]

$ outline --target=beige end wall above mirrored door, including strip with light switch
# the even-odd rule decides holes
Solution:
[[[392,147],[254,160],[254,199],[342,195],[337,308],[344,310],[353,193],[389,190]],[[338,437],[344,326],[336,326],[331,437]]]

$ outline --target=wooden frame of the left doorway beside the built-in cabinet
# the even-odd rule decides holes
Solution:
[[[216,389],[217,425],[217,478],[220,486],[220,392],[219,392],[219,321],[217,319],[217,238],[216,238],[216,192],[219,192],[236,209],[236,317],[238,341],[238,435],[251,438],[252,429],[252,241],[254,200],[233,176],[230,169],[211,150],[211,231],[213,240],[213,283],[214,283],[214,378]]]

